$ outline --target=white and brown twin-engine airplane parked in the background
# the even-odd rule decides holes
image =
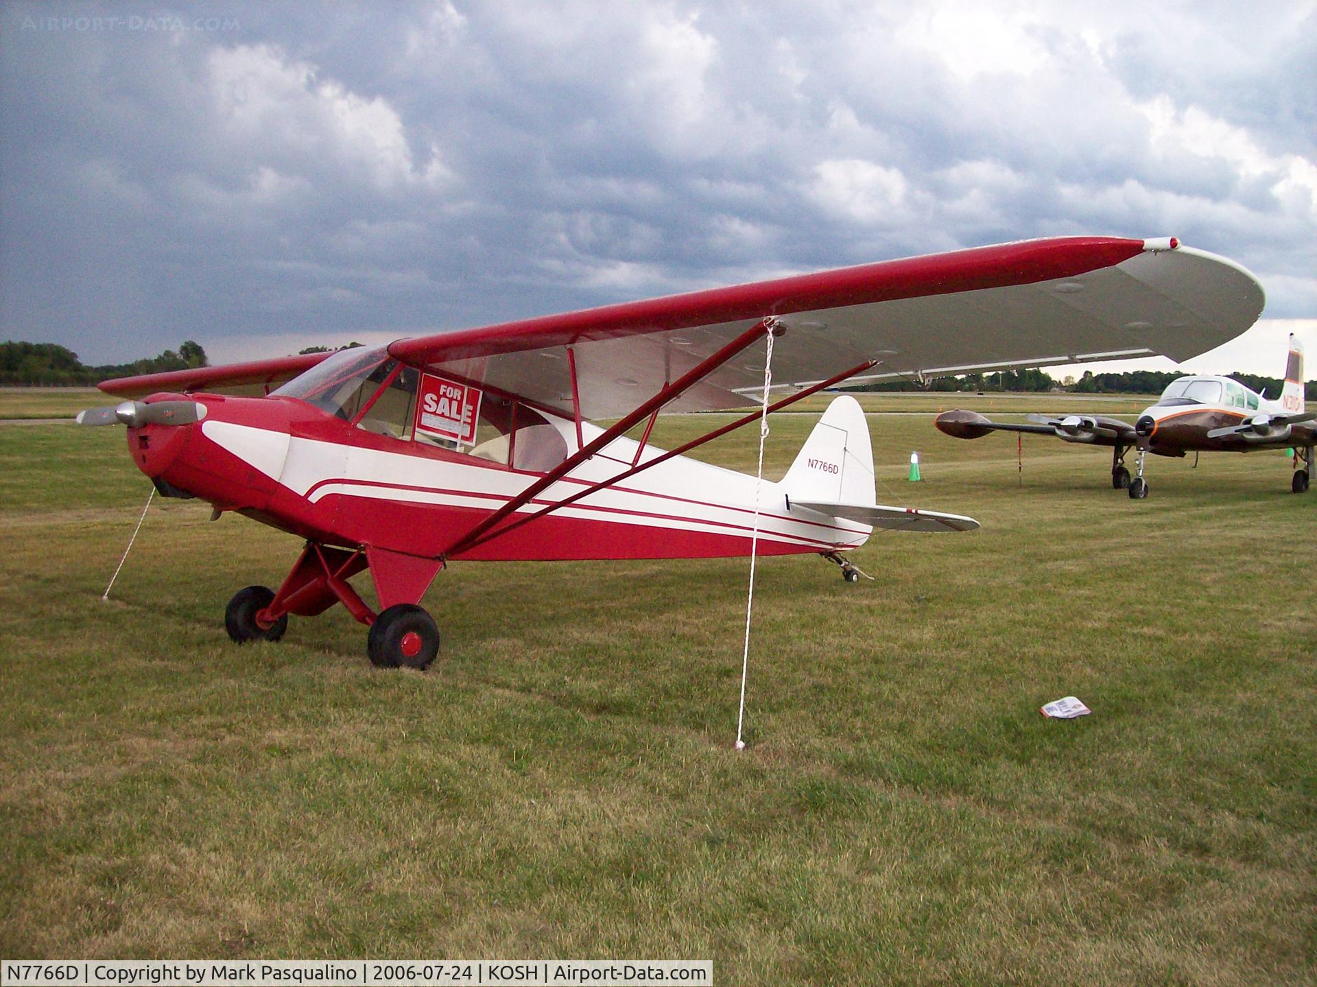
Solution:
[[[1279,401],[1245,387],[1229,377],[1179,377],[1162,391],[1156,405],[1143,409],[1134,424],[1106,415],[1029,415],[1035,424],[992,422],[977,411],[943,411],[936,426],[956,439],[981,439],[993,431],[1055,435],[1063,441],[1110,445],[1112,486],[1129,488],[1130,497],[1148,495],[1143,478],[1147,453],[1184,456],[1187,452],[1252,452],[1295,449],[1289,489],[1308,489],[1317,443],[1317,412],[1304,410],[1304,351],[1289,336],[1289,358]],[[1130,478],[1125,456],[1139,453],[1137,474]]]

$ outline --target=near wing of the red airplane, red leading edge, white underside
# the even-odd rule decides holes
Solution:
[[[585,418],[614,418],[766,315],[786,327],[776,386],[878,360],[863,378],[1046,366],[1166,353],[1185,360],[1249,328],[1262,289],[1223,258],[1112,237],[1063,237],[885,261],[394,343],[416,366]],[[752,347],[666,406],[753,403]]]

